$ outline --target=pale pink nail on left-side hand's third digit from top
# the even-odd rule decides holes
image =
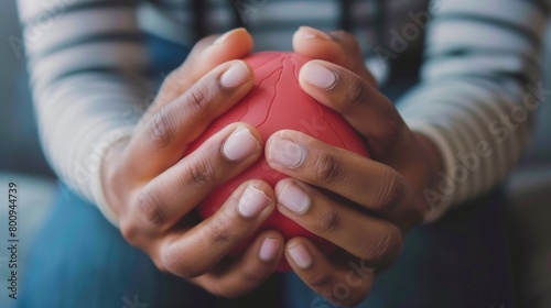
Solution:
[[[242,160],[260,150],[260,143],[244,127],[238,127],[224,142],[222,152],[230,161]]]

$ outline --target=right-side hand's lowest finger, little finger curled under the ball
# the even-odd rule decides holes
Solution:
[[[291,239],[285,245],[285,257],[309,287],[337,305],[359,304],[374,282],[371,271],[357,271],[356,264],[333,264],[306,239]]]

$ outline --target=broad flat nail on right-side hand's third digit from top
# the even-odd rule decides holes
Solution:
[[[287,168],[295,168],[303,162],[304,151],[296,142],[276,138],[268,148],[268,160]]]

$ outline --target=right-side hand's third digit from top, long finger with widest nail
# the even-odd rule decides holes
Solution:
[[[272,134],[264,152],[273,169],[333,191],[392,222],[422,219],[417,207],[400,207],[412,196],[412,188],[385,164],[289,130]]]

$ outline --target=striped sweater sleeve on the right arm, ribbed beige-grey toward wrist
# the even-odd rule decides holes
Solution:
[[[399,102],[444,161],[424,196],[428,221],[501,182],[521,157],[541,105],[548,0],[435,0],[421,82]]]

